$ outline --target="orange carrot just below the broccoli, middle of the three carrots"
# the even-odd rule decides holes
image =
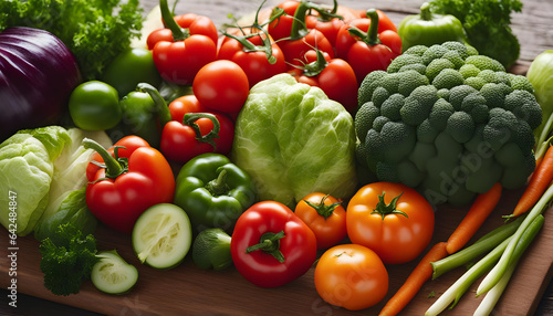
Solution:
[[[498,182],[488,192],[477,197],[462,221],[448,239],[447,251],[449,254],[459,251],[474,235],[498,204],[502,189],[503,187]]]

